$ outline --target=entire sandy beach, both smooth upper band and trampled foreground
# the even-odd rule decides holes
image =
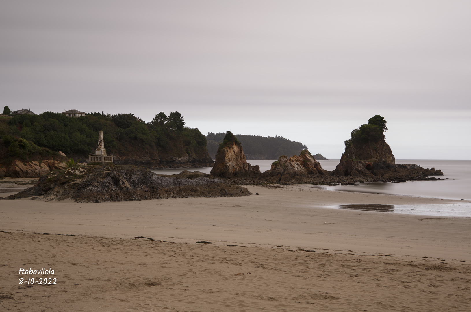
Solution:
[[[321,208],[453,201],[248,188],[260,195],[1,200],[0,310],[470,311],[471,218]],[[58,283],[20,286],[41,277],[20,267]]]

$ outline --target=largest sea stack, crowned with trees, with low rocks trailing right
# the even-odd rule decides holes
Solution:
[[[379,176],[383,179],[410,179],[423,175],[443,175],[440,170],[425,169],[416,164],[397,165],[383,131],[386,120],[375,115],[351,133],[345,141],[345,152],[333,171],[336,176]]]

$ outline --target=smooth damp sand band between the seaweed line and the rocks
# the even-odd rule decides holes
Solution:
[[[157,240],[173,238],[175,242],[210,240],[415,256],[428,253],[471,261],[471,250],[464,247],[471,240],[469,217],[324,208],[334,204],[461,203],[458,200],[326,191],[308,189],[303,185],[275,189],[246,187],[253,194],[259,192],[260,195],[99,204],[72,200],[30,201],[28,198],[2,200],[0,227],[8,232],[69,233],[111,238],[143,235]],[[452,234],[457,231],[462,232],[459,239]],[[441,234],[447,238],[446,244],[443,244]],[[384,240],[390,243],[378,250]]]

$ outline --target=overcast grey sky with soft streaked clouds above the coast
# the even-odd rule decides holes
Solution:
[[[0,105],[470,159],[471,1],[0,1]]]

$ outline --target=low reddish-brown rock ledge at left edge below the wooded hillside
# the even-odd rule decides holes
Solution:
[[[51,170],[65,169],[67,165],[58,160],[42,160],[23,162],[13,160],[6,166],[0,167],[0,176],[9,176],[14,178],[37,178],[48,174]]]

